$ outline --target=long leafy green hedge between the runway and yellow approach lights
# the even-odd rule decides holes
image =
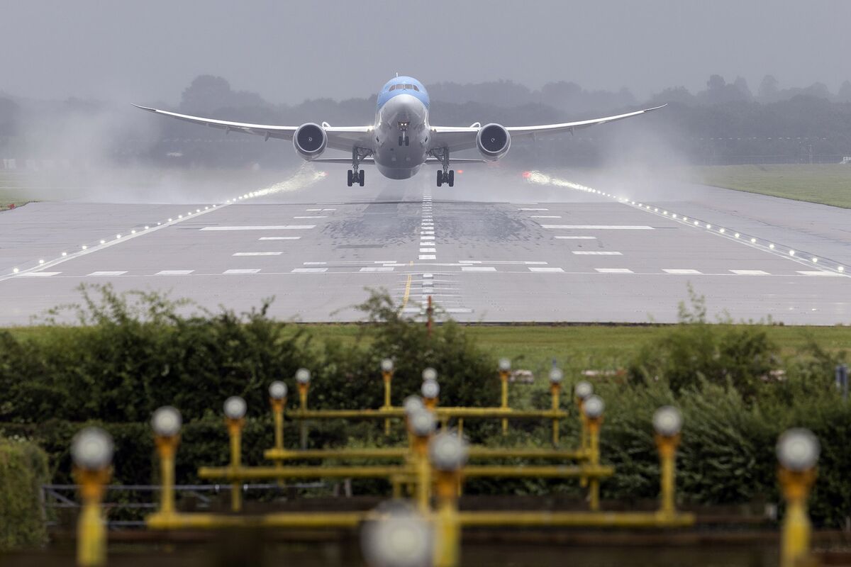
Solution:
[[[313,373],[311,407],[377,407],[383,402],[380,360],[397,360],[395,404],[420,386],[420,372],[440,373],[441,398],[454,405],[495,405],[498,353],[484,352],[454,324],[425,326],[402,319],[397,306],[376,294],[362,309],[374,325],[363,326],[354,344],[315,341],[300,328],[270,320],[267,303],[247,314],[191,312],[191,306],[149,294],[117,295],[109,287],[85,288],[83,326],[45,327],[39,332],[0,332],[0,430],[37,441],[50,456],[57,482],[70,480],[68,445],[84,422],[98,422],[116,439],[115,480],[146,484],[156,479],[147,420],[157,406],[172,404],[186,427],[178,454],[179,482],[197,480],[201,465],[227,462],[221,404],[231,394],[248,400],[244,461],[262,462],[271,446],[266,388],[300,366]],[[822,444],[814,519],[840,526],[848,516],[851,483],[851,413],[832,383],[837,356],[810,344],[780,358],[761,326],[709,325],[700,298],[683,308],[683,324],[642,349],[628,373],[596,384],[607,403],[603,459],[617,468],[603,483],[608,498],[652,498],[659,471],[650,418],[664,404],[682,408],[683,446],[677,485],[686,502],[777,502],[774,443],[793,426],[811,428]],[[771,370],[782,367],[785,377]],[[578,377],[568,376],[569,391]],[[545,379],[512,389],[512,404],[548,407]],[[514,394],[517,393],[517,396]],[[295,405],[297,396],[290,396]],[[575,412],[570,396],[563,406]],[[49,417],[49,418],[45,418]],[[563,422],[565,443],[575,439],[576,419]],[[471,439],[493,445],[542,445],[549,424],[517,422],[503,438],[498,422],[468,422]],[[287,430],[288,446],[297,433]],[[382,445],[379,423],[311,424],[311,446]],[[365,484],[369,490],[383,490]],[[576,483],[477,479],[471,493],[579,493]]]

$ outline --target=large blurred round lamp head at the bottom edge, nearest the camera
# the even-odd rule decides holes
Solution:
[[[363,527],[362,548],[370,567],[431,565],[434,547],[431,525],[412,510],[376,514]]]

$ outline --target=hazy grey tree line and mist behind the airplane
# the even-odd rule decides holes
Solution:
[[[648,116],[579,130],[574,136],[512,145],[509,162],[529,166],[599,165],[612,156],[641,156],[659,164],[839,162],[842,156],[851,156],[849,81],[831,93],[820,82],[786,87],[766,75],[753,91],[742,77],[728,82],[711,75],[698,92],[665,88],[647,100],[637,99],[627,88],[591,91],[568,81],[549,82],[539,89],[511,81],[437,82],[426,87],[431,122],[438,125],[568,122],[668,105]],[[260,94],[235,90],[223,77],[202,75],[183,90],[178,105],[150,104],[237,122],[363,125],[373,122],[376,96],[279,105]],[[115,165],[279,167],[299,162],[279,140],[226,135],[151,116],[126,102],[43,101],[0,94],[0,158],[76,165],[87,161],[87,152],[98,154],[96,162]],[[8,164],[0,162],[0,167],[4,163]]]

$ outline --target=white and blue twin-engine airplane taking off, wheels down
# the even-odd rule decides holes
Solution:
[[[570,132],[596,124],[614,122],[645,112],[656,111],[665,105],[643,111],[628,112],[580,122],[544,124],[541,126],[509,126],[490,122],[482,126],[475,122],[467,127],[431,126],[429,96],[423,84],[414,77],[394,77],[386,82],[378,95],[375,122],[372,126],[331,126],[306,122],[301,126],[272,126],[227,122],[188,116],[177,112],[134,105],[143,111],[172,116],[186,122],[221,128],[226,133],[242,132],[263,136],[264,139],[292,140],[296,153],[308,162],[351,163],[347,183],[363,187],[362,165],[372,164],[389,179],[414,177],[426,163],[440,165],[437,187],[455,184],[453,163],[493,162],[508,153],[511,139],[529,139],[541,134]],[[323,151],[344,150],[350,157],[321,157]],[[456,151],[477,148],[483,159],[450,157]]]

